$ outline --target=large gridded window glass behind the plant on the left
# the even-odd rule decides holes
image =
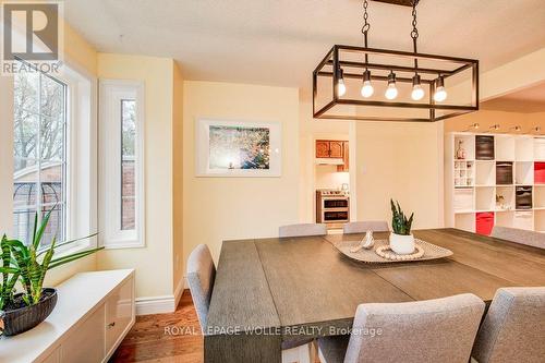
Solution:
[[[14,76],[13,235],[32,241],[53,209],[43,246],[66,235],[66,85],[44,73]]]

